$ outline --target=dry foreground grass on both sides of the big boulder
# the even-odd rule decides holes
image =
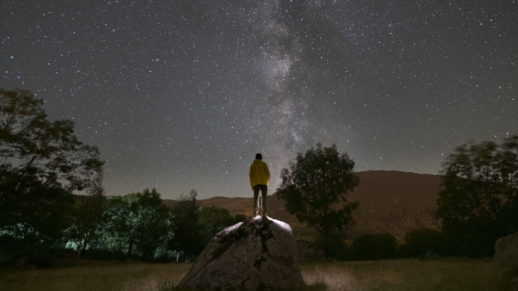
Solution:
[[[71,267],[4,270],[0,290],[168,291],[174,290],[191,266],[81,261]],[[311,291],[505,290],[491,259],[319,261],[303,264],[301,269],[310,285],[303,289]]]

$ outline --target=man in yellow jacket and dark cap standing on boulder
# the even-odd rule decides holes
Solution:
[[[257,216],[259,212],[259,191],[261,191],[263,195],[262,216],[266,217],[266,195],[268,193],[268,181],[270,181],[270,170],[262,160],[263,155],[255,154],[254,162],[250,165],[250,185],[254,192],[254,216]]]

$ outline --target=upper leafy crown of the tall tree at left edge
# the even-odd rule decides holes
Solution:
[[[42,106],[27,90],[0,89],[2,166],[20,180],[37,177],[44,185],[64,182],[67,191],[82,190],[104,164],[99,151],[77,139],[73,121],[48,121]]]

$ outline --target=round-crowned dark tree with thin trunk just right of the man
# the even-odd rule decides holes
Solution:
[[[281,170],[278,198],[285,200],[289,213],[324,236],[326,256],[329,231],[354,224],[358,202],[347,201],[348,192],[358,185],[353,168],[354,161],[348,154],[340,155],[336,144],[322,148],[317,143],[316,149],[298,153],[290,167]]]

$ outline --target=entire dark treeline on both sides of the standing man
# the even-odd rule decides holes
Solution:
[[[26,257],[46,266],[66,250],[76,259],[191,259],[216,232],[245,219],[197,207],[196,191],[172,208],[154,189],[105,196],[98,148],[77,139],[74,122],[48,121],[42,107],[27,90],[0,89],[0,251],[11,262]],[[354,223],[358,207],[347,200],[357,185],[353,167],[334,144],[317,144],[281,171],[286,210],[320,232],[328,257],[493,256],[495,241],[518,231],[518,135],[455,149],[442,166],[441,231],[411,231],[399,247],[389,234],[352,242],[337,234]],[[345,205],[337,210],[339,201]]]

